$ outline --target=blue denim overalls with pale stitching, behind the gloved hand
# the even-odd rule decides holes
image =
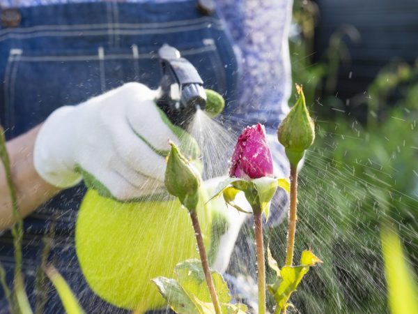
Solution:
[[[206,88],[233,103],[238,67],[231,40],[217,13],[201,13],[196,0],[71,3],[18,12],[22,20],[17,27],[0,28],[0,123],[8,139],[40,124],[57,107],[77,105],[124,82],[157,88],[161,78],[157,50],[164,43],[194,64]],[[231,109],[229,105],[227,111]],[[95,297],[79,269],[74,229],[84,192],[81,185],[65,190],[24,220],[26,290],[34,305],[42,239],[53,228],[49,260],[86,313],[125,313]],[[0,261],[10,283],[14,265],[10,232],[0,237]],[[47,293],[44,313],[63,313],[56,292]],[[0,313],[8,313],[3,291],[0,297]]]

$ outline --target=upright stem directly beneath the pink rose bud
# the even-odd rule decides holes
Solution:
[[[256,234],[257,253],[258,314],[265,314],[265,262],[262,214],[262,211],[254,211],[254,227]]]

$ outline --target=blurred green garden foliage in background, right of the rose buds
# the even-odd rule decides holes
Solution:
[[[349,59],[341,36],[356,40],[357,33],[350,27],[336,31],[322,61],[312,63],[316,20],[315,3],[295,1],[293,82],[304,86],[317,133],[300,174],[295,252],[312,248],[323,265],[301,283],[292,300],[295,310],[288,312],[389,313],[382,223],[398,230],[418,270],[418,65],[398,61],[380,71],[366,92],[368,117],[362,124],[343,110],[334,90],[339,64]],[[341,110],[330,115],[330,107]],[[279,260],[286,251],[286,225],[270,230]]]

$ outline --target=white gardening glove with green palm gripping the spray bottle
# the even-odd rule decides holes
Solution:
[[[36,139],[40,177],[69,188],[84,177],[105,196],[132,200],[164,187],[169,140],[191,137],[155,104],[157,91],[127,83],[77,106],[55,110]]]

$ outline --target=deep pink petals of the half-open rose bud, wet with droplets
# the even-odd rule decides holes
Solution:
[[[230,177],[257,179],[272,177],[273,162],[264,126],[256,124],[244,129],[231,158]]]

